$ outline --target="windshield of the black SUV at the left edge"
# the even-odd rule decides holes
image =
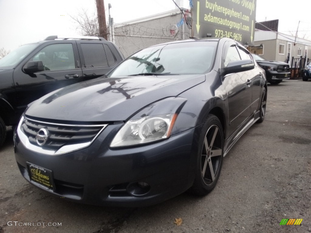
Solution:
[[[38,44],[25,44],[17,49],[13,50],[7,56],[0,59],[0,68],[12,69],[16,66],[24,57],[26,57]]]

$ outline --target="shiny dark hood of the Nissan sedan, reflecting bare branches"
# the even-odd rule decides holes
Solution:
[[[98,78],[47,94],[25,114],[61,121],[126,121],[150,103],[177,96],[204,81],[205,75]]]

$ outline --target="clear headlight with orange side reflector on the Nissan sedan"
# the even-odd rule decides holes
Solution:
[[[147,106],[125,123],[110,146],[129,146],[169,138],[185,102],[184,98],[166,98]]]

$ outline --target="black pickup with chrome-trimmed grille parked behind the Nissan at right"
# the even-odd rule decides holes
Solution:
[[[285,62],[267,61],[257,54],[252,54],[258,65],[266,71],[267,82],[279,84],[290,78],[290,66]]]

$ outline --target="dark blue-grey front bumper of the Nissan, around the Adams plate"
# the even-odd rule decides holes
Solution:
[[[109,125],[88,148],[60,155],[30,151],[17,134],[15,157],[21,174],[30,182],[27,162],[49,169],[55,190],[48,192],[81,203],[107,206],[151,205],[191,187],[197,158],[193,149],[197,148],[193,142],[196,128],[153,144],[109,148],[119,127]]]

